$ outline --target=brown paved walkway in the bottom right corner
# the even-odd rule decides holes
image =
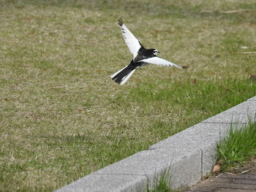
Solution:
[[[248,170],[248,169],[247,169]],[[256,165],[244,174],[219,174],[189,188],[187,192],[252,192],[256,191]]]

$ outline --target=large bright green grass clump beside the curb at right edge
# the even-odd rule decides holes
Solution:
[[[243,164],[256,156],[256,123],[241,128],[231,126],[225,139],[217,145],[218,159],[222,170]]]

